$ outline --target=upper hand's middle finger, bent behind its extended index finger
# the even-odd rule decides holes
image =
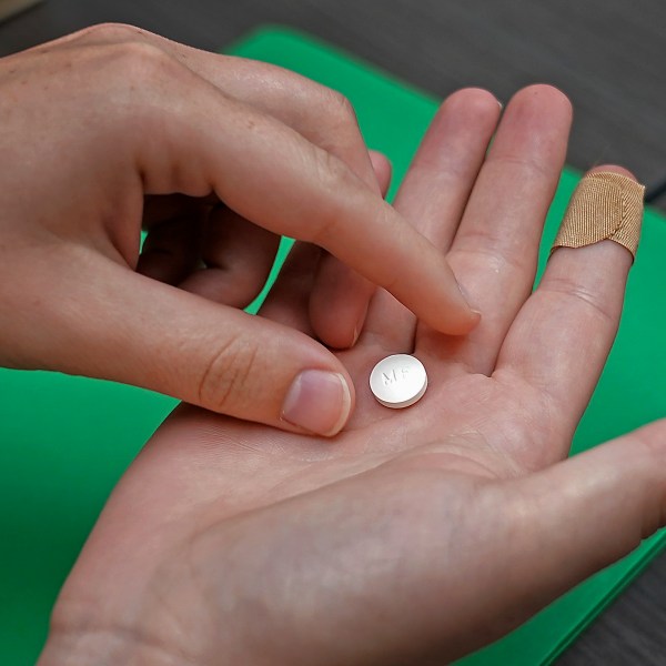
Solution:
[[[93,26],[59,43],[155,46],[225,94],[273,115],[307,141],[336,155],[379,192],[355,112],[342,94],[325,85],[268,62],[202,51],[123,24]],[[249,251],[252,252],[252,248]],[[220,256],[222,252],[231,254],[221,248],[213,253]],[[325,253],[321,254],[315,273],[316,279],[309,290],[313,332],[330,346],[350,346],[363,326],[375,286]],[[198,280],[209,278],[213,275],[198,275]]]

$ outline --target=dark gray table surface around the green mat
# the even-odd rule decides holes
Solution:
[[[260,23],[301,28],[444,97],[482,85],[500,99],[558,85],[576,117],[568,162],[617,162],[666,178],[666,2],[658,0],[48,0],[0,24],[0,56],[102,21],[219,50]],[[561,659],[666,664],[666,555]],[[509,665],[501,665],[509,666]]]

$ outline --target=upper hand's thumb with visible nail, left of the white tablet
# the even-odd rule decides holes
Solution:
[[[49,325],[40,316],[48,363],[38,365],[283,430],[330,436],[346,423],[353,383],[311,337],[111,261],[94,263],[85,278],[59,273],[62,296],[50,301],[60,306],[49,312]]]

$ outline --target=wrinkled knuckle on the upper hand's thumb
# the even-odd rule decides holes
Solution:
[[[206,408],[234,415],[251,393],[258,372],[259,350],[246,336],[236,336],[216,349],[204,364],[199,401]]]

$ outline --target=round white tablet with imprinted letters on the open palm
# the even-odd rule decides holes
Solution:
[[[408,354],[393,354],[370,373],[370,390],[386,407],[398,410],[420,401],[427,389],[425,367]]]

